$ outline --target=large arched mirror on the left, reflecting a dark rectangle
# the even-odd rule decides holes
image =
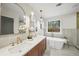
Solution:
[[[19,4],[1,3],[0,34],[16,34],[26,32],[26,18]]]

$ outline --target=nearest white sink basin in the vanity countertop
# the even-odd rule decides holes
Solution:
[[[16,53],[16,54],[18,54],[18,53],[21,53],[24,50],[26,50],[28,46],[29,45],[27,43],[23,42],[23,43],[20,43],[20,44],[18,44],[16,46],[12,46],[11,48],[8,49],[8,51],[10,53]]]

